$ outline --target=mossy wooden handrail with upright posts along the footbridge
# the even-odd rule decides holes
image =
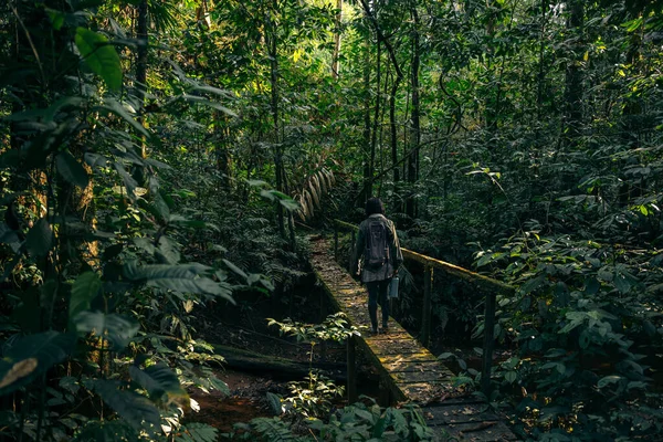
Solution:
[[[336,261],[338,261],[339,230],[350,231],[351,252],[348,262],[349,272],[352,272],[351,266],[355,259],[354,254],[356,253],[354,249],[355,244],[357,243],[356,233],[358,229],[359,228],[355,224],[350,224],[340,220],[334,220],[334,257]],[[431,336],[431,292],[434,283],[434,270],[465,280],[485,294],[481,389],[486,396],[488,396],[491,389],[491,372],[493,368],[493,351],[495,349],[495,298],[497,293],[513,293],[514,287],[497,280],[493,280],[492,277],[480,275],[478,273],[459,267],[457,265],[453,265],[444,261],[435,260],[434,257],[422,255],[421,253],[417,253],[408,249],[401,249],[401,251],[403,259],[417,261],[423,264],[423,311],[420,334],[420,341],[423,346],[429,345]]]

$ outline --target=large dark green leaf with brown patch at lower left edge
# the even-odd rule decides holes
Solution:
[[[0,396],[30,383],[64,360],[75,345],[75,336],[56,332],[29,335],[13,340],[0,360]]]

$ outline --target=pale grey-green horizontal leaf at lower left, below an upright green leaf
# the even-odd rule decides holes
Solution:
[[[134,319],[101,312],[81,312],[74,318],[74,324],[78,333],[94,333],[108,339],[115,350],[125,348],[140,328]]]

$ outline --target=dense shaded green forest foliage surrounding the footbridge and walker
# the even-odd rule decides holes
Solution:
[[[484,396],[483,297],[433,287],[457,388],[523,440],[659,440],[662,67],[657,0],[1,2],[0,440],[431,440],[314,371],[197,420],[246,324],[305,372],[357,333],[312,301],[308,236],[370,197],[515,288]]]

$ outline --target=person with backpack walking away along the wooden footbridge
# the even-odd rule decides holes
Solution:
[[[379,198],[366,202],[366,219],[359,224],[355,251],[352,269],[356,275],[359,259],[362,259],[361,282],[368,290],[371,333],[378,334],[378,304],[382,311],[382,333],[386,333],[389,329],[389,283],[398,274],[403,254],[393,222],[385,217],[385,206]]]

